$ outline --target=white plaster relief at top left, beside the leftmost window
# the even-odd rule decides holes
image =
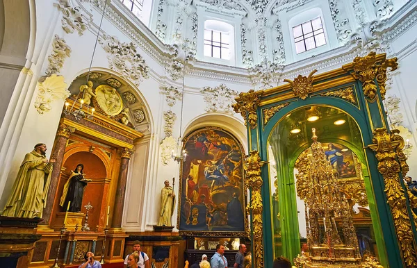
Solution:
[[[59,0],[59,8],[63,12],[61,23],[66,33],[74,33],[78,31],[79,35],[83,35],[83,31],[88,26],[87,19],[79,6],[72,6],[70,0]]]

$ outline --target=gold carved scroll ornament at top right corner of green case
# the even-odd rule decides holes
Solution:
[[[375,97],[377,97],[375,77],[377,78],[381,97],[385,99],[386,69],[389,67],[392,70],[397,69],[397,58],[384,60],[380,65],[377,65],[375,51],[370,52],[367,56],[354,58],[352,76],[362,82],[363,94],[370,101],[375,101]]]

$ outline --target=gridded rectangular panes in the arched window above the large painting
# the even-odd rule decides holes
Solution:
[[[204,56],[230,59],[229,33],[204,30]]]

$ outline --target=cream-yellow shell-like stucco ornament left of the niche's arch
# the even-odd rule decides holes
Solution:
[[[70,92],[67,90],[67,83],[64,82],[64,77],[52,74],[45,78],[44,81],[38,81],[38,95],[35,99],[35,108],[42,115],[44,112],[49,112],[52,109],[52,101],[66,99],[67,97],[70,97]]]

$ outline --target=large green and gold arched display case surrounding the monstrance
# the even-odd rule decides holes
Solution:
[[[259,176],[256,185],[248,185],[253,250],[263,253],[254,256],[256,267],[272,267],[272,260],[281,255],[292,260],[300,254],[300,242],[309,242],[309,237],[300,239],[302,226],[308,233],[308,225],[302,222],[306,217],[299,216],[304,207],[297,197],[303,191],[297,178],[303,176],[300,159],[312,144],[312,128],[332,167],[328,171],[341,185],[338,194],[350,206],[346,211],[352,214],[357,235],[354,210],[367,219],[361,224],[372,228],[375,252],[361,252],[361,265],[378,260],[383,267],[417,266],[410,209],[416,202],[402,181],[408,171],[404,140],[398,131],[387,129],[383,105],[386,72],[398,67],[396,60],[371,52],[340,69],[321,74],[311,69],[308,76],[236,98],[234,110],[245,119],[251,156],[258,156],[247,159],[261,163],[252,173]],[[342,222],[338,217],[332,222],[337,228]],[[324,221],[319,217],[317,226],[325,231]],[[328,254],[320,258],[325,260]],[[358,263],[352,267],[361,267]]]

